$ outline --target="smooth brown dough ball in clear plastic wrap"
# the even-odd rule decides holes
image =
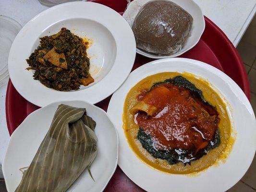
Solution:
[[[183,47],[193,24],[192,16],[169,0],[147,2],[132,26],[137,48],[157,55],[172,55]]]

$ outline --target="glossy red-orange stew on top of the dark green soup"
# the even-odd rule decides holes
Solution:
[[[219,125],[218,112],[184,87],[159,84],[138,100],[157,108],[153,116],[135,115],[137,124],[152,139],[156,149],[183,149],[195,154],[210,142]]]

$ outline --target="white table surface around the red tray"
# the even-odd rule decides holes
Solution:
[[[228,36],[236,47],[256,12],[256,0],[194,0],[203,13]],[[0,15],[9,16],[22,26],[48,7],[37,0],[0,0]],[[5,117],[7,84],[0,87],[0,164],[2,163],[9,132]],[[0,178],[2,176],[0,169]]]

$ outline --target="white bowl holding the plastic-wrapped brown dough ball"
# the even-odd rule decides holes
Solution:
[[[140,8],[144,4],[146,4],[148,1],[150,0],[134,0],[129,4],[129,6],[123,13],[123,17],[127,20],[130,26],[133,25],[134,19],[137,13],[139,12]],[[188,37],[185,44],[183,45],[183,48],[177,53],[168,55],[168,56],[159,56],[159,55],[149,53],[142,49],[137,48],[136,52],[138,54],[144,55],[145,57],[154,58],[154,59],[177,57],[183,54],[184,52],[188,51],[189,49],[193,48],[200,40],[200,37],[202,36],[205,30],[205,19],[200,7],[193,0],[170,0],[170,1],[181,6],[193,17],[193,25],[190,32],[190,36]]]

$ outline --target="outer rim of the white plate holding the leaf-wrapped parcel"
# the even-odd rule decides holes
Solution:
[[[95,110],[102,111],[103,114],[108,118],[108,120],[109,120],[110,123],[112,124],[112,128],[113,128],[113,130],[115,131],[115,140],[116,140],[116,157],[115,157],[115,159],[116,159],[116,162],[115,162],[115,165],[114,165],[114,169],[112,170],[112,172],[111,172],[111,174],[110,174],[110,176],[109,176],[107,182],[104,184],[103,188],[102,188],[101,191],[100,191],[100,192],[103,192],[104,189],[106,188],[106,186],[108,185],[108,183],[110,182],[110,179],[112,178],[113,174],[115,173],[116,168],[117,168],[117,165],[118,165],[118,159],[119,159],[119,137],[118,137],[117,129],[116,129],[114,123],[112,122],[112,120],[110,119],[109,114],[107,114],[107,112],[104,111],[102,108],[99,108],[99,107],[97,107],[97,106],[95,106],[95,105],[93,105],[93,104],[91,104],[91,103],[89,103],[89,102],[83,101],[83,100],[71,100],[71,101],[57,101],[57,102],[52,102],[52,103],[50,103],[49,105],[46,105],[45,107],[42,107],[42,108],[38,108],[37,110],[35,110],[35,111],[33,111],[32,113],[30,113],[30,114],[22,121],[22,123],[14,130],[14,132],[12,132],[12,135],[15,136],[16,130],[18,130],[18,128],[19,128],[20,126],[23,126],[23,124],[24,124],[25,121],[27,121],[28,119],[30,119],[32,116],[34,116],[35,114],[37,114],[37,113],[40,112],[41,110],[44,110],[44,108],[49,108],[49,107],[52,106],[52,105],[58,105],[58,104],[61,104],[61,103],[65,103],[66,105],[68,105],[68,103],[73,103],[73,102],[82,102],[82,103],[85,103],[85,105],[89,105],[89,106],[91,106],[92,108],[95,108]],[[72,105],[72,104],[71,104],[71,105]],[[7,176],[6,176],[7,173],[6,173],[6,170],[5,170],[5,169],[6,169],[5,163],[6,163],[6,161],[7,161],[7,160],[6,160],[6,154],[7,154],[7,152],[8,152],[8,149],[10,148],[10,145],[11,145],[12,140],[13,140],[13,137],[14,137],[14,136],[12,136],[12,135],[10,136],[10,139],[9,139],[9,142],[8,142],[8,145],[7,145],[7,150],[6,150],[6,153],[4,154],[3,162],[2,162],[2,172],[3,172],[3,177],[4,177],[4,178],[7,178]],[[81,173],[81,174],[83,174],[83,173]],[[81,175],[79,175],[79,177],[80,177],[80,176],[81,176]],[[7,181],[8,181],[8,180],[6,180],[6,189],[7,189],[7,191],[9,191],[9,185],[11,185],[11,184],[8,184]]]

